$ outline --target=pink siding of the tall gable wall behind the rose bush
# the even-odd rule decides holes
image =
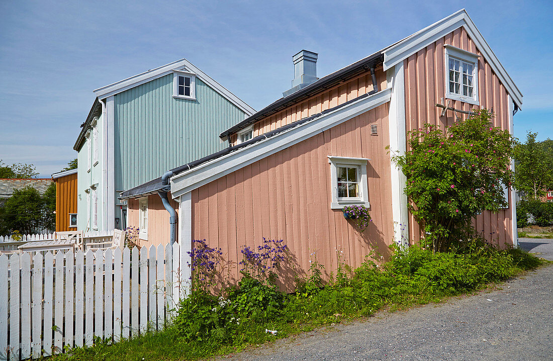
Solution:
[[[434,106],[445,97],[448,74],[445,71],[444,44],[453,45],[471,53],[478,54],[478,96],[480,107],[493,108],[493,125],[509,129],[509,104],[505,87],[499,82],[491,67],[476,45],[468,37],[465,29],[459,28],[444,38],[430,44],[425,49],[404,60],[405,69],[405,118],[406,130],[420,128],[422,124],[440,125],[442,129],[455,122],[452,111],[441,116],[441,108]],[[448,100],[445,100],[446,103]],[[451,101],[451,107],[468,111],[477,106],[461,101]],[[457,113],[461,119],[465,114]],[[513,244],[511,227],[512,210],[500,210],[499,213],[483,212],[474,227],[487,239],[504,247]],[[411,242],[420,238],[421,230],[413,216],[409,215]]]

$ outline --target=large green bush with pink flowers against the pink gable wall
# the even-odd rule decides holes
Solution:
[[[407,181],[409,210],[435,251],[473,234],[472,219],[484,210],[497,212],[507,200],[514,138],[494,128],[487,109],[445,130],[426,124],[408,132],[409,150],[392,159]]]

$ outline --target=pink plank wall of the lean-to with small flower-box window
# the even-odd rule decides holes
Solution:
[[[371,135],[377,124],[379,135]],[[317,134],[192,191],[192,236],[221,247],[231,263],[243,245],[257,247],[263,237],[283,239],[291,268],[300,275],[310,257],[336,272],[338,257],[357,267],[370,250],[387,254],[393,242],[388,145],[388,104]],[[327,155],[371,159],[367,165],[373,222],[360,234],[341,210],[331,210]],[[310,256],[311,254],[314,254]],[[294,271],[281,280],[291,290]],[[231,279],[238,269],[231,269]]]

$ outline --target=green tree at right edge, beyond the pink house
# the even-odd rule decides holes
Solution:
[[[515,186],[538,199],[553,186],[553,147],[550,139],[536,142],[538,133],[528,132],[526,143],[514,148]]]

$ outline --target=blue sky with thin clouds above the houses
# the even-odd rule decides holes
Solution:
[[[76,157],[94,89],[182,57],[260,109],[299,50],[324,76],[463,6],[523,92],[515,136],[553,138],[550,1],[21,0],[0,2],[0,159],[49,177]]]

